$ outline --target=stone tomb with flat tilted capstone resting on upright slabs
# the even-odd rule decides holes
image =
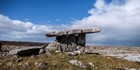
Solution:
[[[92,29],[72,29],[65,31],[54,31],[47,33],[47,37],[56,37],[57,50],[59,51],[75,51],[80,47],[85,47],[86,34],[100,32],[99,28]],[[54,47],[54,46],[52,46]]]

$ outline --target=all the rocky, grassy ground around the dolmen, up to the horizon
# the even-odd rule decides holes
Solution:
[[[47,45],[12,47],[0,52],[0,70],[140,70],[140,47],[87,46],[73,52]]]

